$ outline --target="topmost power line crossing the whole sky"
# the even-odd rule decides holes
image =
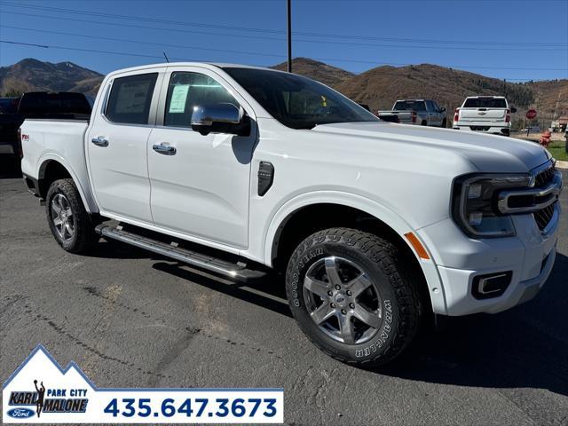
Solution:
[[[48,6],[38,6],[38,5],[22,5],[22,4],[14,4],[10,2],[2,2],[2,4],[7,5],[9,7],[19,7],[19,8],[27,8],[27,9],[35,9],[40,11],[48,11],[48,12],[63,12],[63,13],[70,13],[76,15],[86,15],[86,16],[93,16],[93,17],[103,17],[103,18],[111,18],[114,20],[133,20],[133,21],[143,21],[143,22],[161,22],[166,24],[174,24],[174,25],[183,25],[183,26],[190,26],[190,27],[200,27],[200,28],[217,28],[217,29],[225,29],[225,30],[233,30],[233,31],[245,31],[245,32],[255,32],[255,33],[272,33],[272,34],[285,34],[285,31],[270,29],[270,28],[249,28],[249,27],[236,27],[236,26],[227,26],[227,25],[218,25],[218,24],[205,24],[202,22],[190,22],[190,21],[180,21],[180,20],[164,20],[164,19],[157,19],[157,18],[146,18],[142,16],[131,16],[131,15],[121,15],[121,14],[113,14],[113,13],[104,13],[104,12],[93,12],[93,11],[79,11],[77,9],[66,9],[60,7],[48,7]],[[10,12],[14,13],[15,12]],[[22,13],[23,14],[23,13]],[[38,15],[31,15],[31,16],[38,16]],[[43,15],[39,15],[43,17]],[[60,19],[55,17],[46,17],[46,18],[53,18],[53,19]],[[106,22],[100,22],[106,23]],[[167,28],[163,28],[167,29]],[[324,34],[324,33],[313,33],[313,32],[301,32],[295,31],[295,35],[299,36],[312,36],[312,37],[327,37],[327,38],[349,38],[355,40],[375,40],[375,41],[386,41],[386,42],[394,42],[394,43],[441,43],[441,44],[469,44],[469,45],[482,45],[487,46],[491,45],[499,45],[499,46],[522,46],[526,47],[527,45],[533,46],[555,46],[555,47],[562,47],[568,46],[568,43],[522,43],[522,42],[494,42],[494,41],[464,41],[464,40],[435,40],[435,39],[415,39],[415,38],[398,38],[398,37],[376,37],[376,36],[355,36],[355,35],[338,35],[338,34]],[[520,50],[520,49],[519,49]],[[525,49],[522,49],[525,50]]]

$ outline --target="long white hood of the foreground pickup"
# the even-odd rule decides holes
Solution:
[[[411,146],[431,147],[439,154],[459,154],[483,172],[527,172],[550,159],[541,146],[516,138],[462,130],[439,129],[391,122],[338,122],[316,126],[312,131],[351,138],[374,138]]]

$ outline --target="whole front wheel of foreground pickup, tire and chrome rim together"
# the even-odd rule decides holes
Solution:
[[[320,350],[374,367],[394,359],[418,331],[422,304],[389,241],[347,228],[314,233],[288,263],[290,309]]]

